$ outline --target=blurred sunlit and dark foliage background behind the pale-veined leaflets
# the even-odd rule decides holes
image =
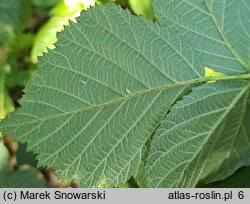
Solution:
[[[39,56],[54,49],[56,33],[80,12],[112,0],[0,0],[0,119],[19,107],[18,99]],[[152,0],[113,0],[134,15],[154,20]],[[59,180],[52,169],[37,167],[36,155],[0,133],[0,187],[77,187]],[[225,181],[199,187],[250,187],[250,168]],[[237,181],[237,182],[235,182]],[[244,185],[244,186],[242,186]],[[133,179],[120,187],[137,187]]]

